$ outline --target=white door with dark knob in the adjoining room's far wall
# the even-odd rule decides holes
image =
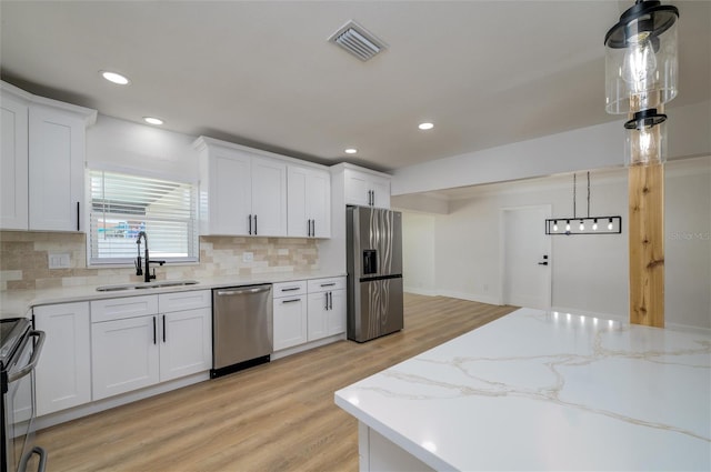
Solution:
[[[544,222],[550,205],[501,210],[502,302],[551,307],[551,241]]]

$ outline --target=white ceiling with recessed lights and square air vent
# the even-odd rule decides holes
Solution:
[[[681,13],[673,108],[711,98],[711,1],[670,3]],[[111,117],[393,170],[621,119],[604,112],[603,38],[631,6],[2,0],[1,73]],[[329,43],[351,19],[388,50],[361,62]]]

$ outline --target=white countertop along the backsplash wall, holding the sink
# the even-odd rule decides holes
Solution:
[[[0,319],[29,317],[31,314],[30,310],[32,307],[43,304],[148,295],[152,293],[184,292],[189,290],[211,290],[222,287],[251,285],[257,283],[277,283],[289,282],[292,280],[321,279],[328,277],[344,275],[346,273],[333,273],[324,271],[273,272],[240,277],[199,278],[197,279],[199,283],[194,285],[108,292],[97,291],[97,287],[100,285],[61,287],[41,290],[8,290],[0,292]]]

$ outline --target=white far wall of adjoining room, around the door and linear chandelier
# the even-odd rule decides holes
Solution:
[[[584,174],[578,178],[581,215]],[[550,237],[552,304],[628,319],[627,170],[593,172],[591,179],[591,214],[621,215],[622,234]],[[711,329],[711,158],[668,163],[665,185],[667,323]],[[553,215],[572,215],[572,175],[487,185],[472,198],[450,201],[445,215],[405,213],[405,287],[498,303],[499,210],[534,204],[551,204]],[[543,222],[531,231],[543,231]]]

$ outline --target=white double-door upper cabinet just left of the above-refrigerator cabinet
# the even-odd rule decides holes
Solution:
[[[288,167],[289,235],[331,237],[331,174],[321,169]]]

